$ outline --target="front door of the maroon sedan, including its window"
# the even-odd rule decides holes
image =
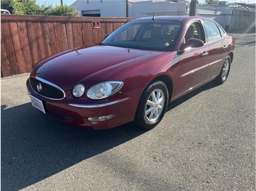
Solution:
[[[190,38],[197,38],[206,42],[204,29],[200,21],[196,21],[188,27],[183,43],[186,43]],[[208,52],[209,45],[204,44],[204,46],[199,48],[186,49],[180,54],[178,83],[175,96],[191,90],[198,84],[204,82],[209,63]]]

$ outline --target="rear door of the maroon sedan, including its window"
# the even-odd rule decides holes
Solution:
[[[218,75],[228,54],[228,42],[225,38],[225,33],[220,32],[220,28],[211,21],[203,21],[206,31],[207,43],[209,45],[209,68],[206,80]]]

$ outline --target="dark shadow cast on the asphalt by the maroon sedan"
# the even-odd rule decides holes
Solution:
[[[216,87],[210,82],[173,101],[167,111],[196,94]],[[127,123],[93,131],[43,115],[31,103],[1,105],[1,190],[19,190],[80,161],[112,149],[148,130]]]

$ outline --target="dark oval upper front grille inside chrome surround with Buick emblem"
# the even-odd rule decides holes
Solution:
[[[30,85],[31,88],[39,95],[43,96],[43,97],[47,97],[49,99],[63,99],[64,98],[64,93],[59,90],[58,88],[51,86],[45,82],[42,82],[40,80],[37,80],[35,78],[29,78],[30,80]],[[38,83],[41,84],[42,86],[42,90],[39,92],[37,89],[37,85]]]

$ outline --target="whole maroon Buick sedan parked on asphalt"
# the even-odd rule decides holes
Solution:
[[[26,85],[32,105],[54,119],[88,129],[130,121],[150,129],[170,101],[211,80],[224,83],[234,48],[234,38],[208,18],[140,18],[100,44],[38,62]]]

